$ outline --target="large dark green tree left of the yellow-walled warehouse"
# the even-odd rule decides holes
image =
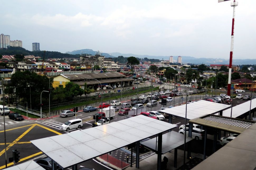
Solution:
[[[40,103],[40,95],[42,91],[49,90],[49,78],[45,75],[41,76],[35,72],[17,71],[11,77],[13,86],[16,89],[16,95],[22,102],[30,103],[32,108]],[[50,86],[53,83],[53,78],[50,79]],[[49,93],[42,93],[42,100],[46,103],[49,101]]]

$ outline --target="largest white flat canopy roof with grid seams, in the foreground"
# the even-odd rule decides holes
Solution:
[[[31,143],[59,166],[67,168],[175,127],[138,115],[107,125],[33,140]]]

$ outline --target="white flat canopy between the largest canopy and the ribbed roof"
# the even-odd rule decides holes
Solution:
[[[206,114],[214,114],[228,107],[230,106],[205,100],[189,103],[187,104],[187,119],[191,120]],[[161,112],[185,118],[186,105],[164,109]]]

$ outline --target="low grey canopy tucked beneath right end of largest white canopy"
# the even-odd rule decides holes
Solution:
[[[191,137],[186,137],[186,143],[193,140]],[[157,140],[158,142],[158,140]],[[165,133],[162,136],[162,154],[165,154],[181,145],[184,144],[184,135],[178,132],[170,131]],[[144,145],[152,150],[158,151],[158,145],[156,145],[156,138],[141,142],[141,145]]]

